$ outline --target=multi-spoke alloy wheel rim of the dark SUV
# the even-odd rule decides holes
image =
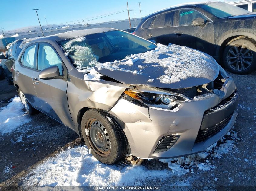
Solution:
[[[248,69],[253,62],[252,51],[245,45],[231,46],[226,56],[229,67],[237,71]]]

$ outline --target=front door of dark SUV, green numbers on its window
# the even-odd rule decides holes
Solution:
[[[214,55],[214,25],[211,19],[190,8],[180,9],[178,14],[176,43]],[[193,21],[197,18],[204,19],[205,24],[193,25]]]

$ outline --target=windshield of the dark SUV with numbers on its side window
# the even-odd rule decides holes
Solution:
[[[240,7],[230,5],[228,3],[222,3],[222,2],[202,4],[202,5],[199,5],[199,7],[210,12],[211,14],[215,15],[218,18],[227,18],[231,16],[250,13],[249,11],[244,10]]]

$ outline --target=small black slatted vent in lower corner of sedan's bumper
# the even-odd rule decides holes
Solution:
[[[162,137],[158,141],[158,144],[155,148],[154,153],[167,151],[168,149],[170,149],[174,145],[174,143],[178,140],[179,137],[180,136],[177,136],[177,135],[168,135],[168,136]]]

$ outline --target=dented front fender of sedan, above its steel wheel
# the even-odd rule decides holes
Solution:
[[[69,72],[72,83],[68,83],[67,97],[68,102],[72,103],[69,104],[69,110],[74,124],[80,123],[77,116],[82,108],[100,108],[108,111],[129,87],[129,85],[104,80],[85,81],[82,80],[84,75],[85,73],[78,72],[76,69]],[[78,132],[78,127],[75,130]]]

